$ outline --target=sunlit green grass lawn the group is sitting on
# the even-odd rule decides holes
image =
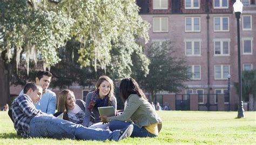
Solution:
[[[255,144],[256,112],[161,111],[163,129],[157,138],[115,141],[23,139],[16,135],[7,112],[0,111],[0,144]]]

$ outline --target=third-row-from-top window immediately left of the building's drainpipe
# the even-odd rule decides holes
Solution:
[[[200,56],[201,54],[200,40],[185,40],[186,56]]]

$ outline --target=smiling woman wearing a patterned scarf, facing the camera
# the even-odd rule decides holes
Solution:
[[[117,111],[117,99],[114,96],[113,81],[106,75],[103,75],[99,77],[95,88],[95,91],[86,95],[84,126],[90,127],[94,123],[97,123],[97,128],[106,128],[107,124],[103,125],[103,123],[100,122],[98,107],[113,106],[115,112]],[[95,116],[95,122],[91,121],[91,115]]]

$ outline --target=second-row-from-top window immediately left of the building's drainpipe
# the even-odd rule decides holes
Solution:
[[[200,32],[200,18],[199,17],[187,17],[185,18],[185,31],[186,32]]]

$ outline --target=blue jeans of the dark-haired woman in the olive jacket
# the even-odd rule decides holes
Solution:
[[[145,127],[139,128],[134,123],[124,122],[124,121],[119,121],[119,120],[111,121],[109,123],[109,129],[111,131],[119,130],[119,129],[125,128],[129,125],[133,125],[133,132],[130,137],[157,137],[157,135],[154,135],[154,134],[150,133],[149,131],[147,131],[147,129]]]

